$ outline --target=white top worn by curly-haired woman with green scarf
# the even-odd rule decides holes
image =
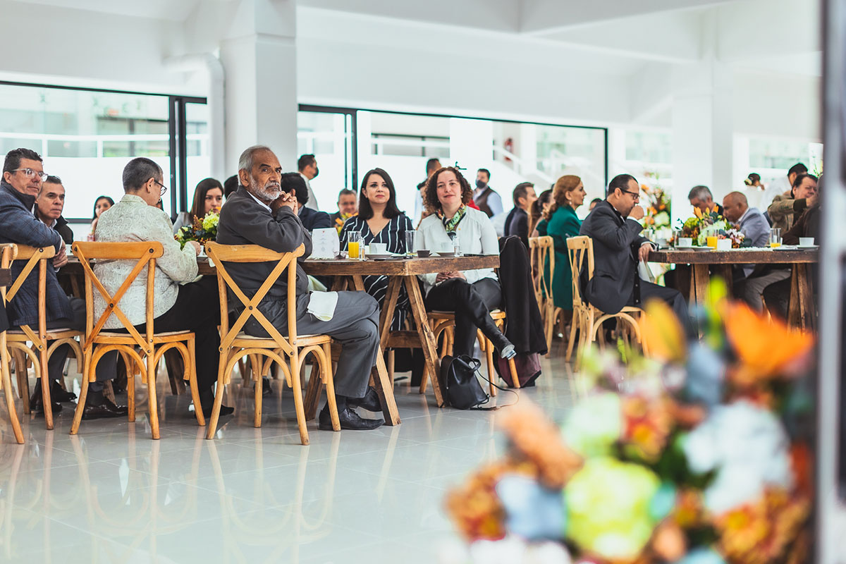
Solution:
[[[464,218],[459,222],[455,232],[459,237],[459,249],[464,255],[499,255],[499,241],[497,232],[491,220],[484,211],[467,208]],[[452,248],[453,242],[443,227],[441,218],[435,214],[426,216],[417,228],[417,248],[429,249],[434,254],[438,249]],[[461,271],[467,282],[472,284],[483,278],[498,280],[497,272],[492,268],[480,268],[473,271]],[[426,289],[426,295],[435,287],[437,273],[421,274],[420,280]]]

